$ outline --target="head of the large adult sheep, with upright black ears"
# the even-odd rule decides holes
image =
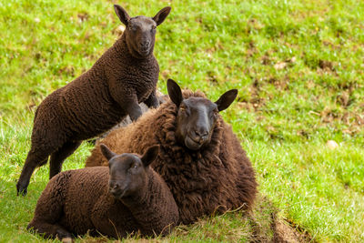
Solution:
[[[176,117],[177,141],[191,150],[206,147],[217,122],[217,113],[226,109],[238,95],[231,89],[216,102],[203,97],[183,98],[181,88],[172,79],[167,80],[168,95],[178,108]]]

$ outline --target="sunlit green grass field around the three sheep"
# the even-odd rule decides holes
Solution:
[[[48,167],[35,171],[26,197],[15,194],[35,108],[115,42],[121,23],[113,3],[0,2],[0,242],[44,241],[25,228]],[[363,1],[118,4],[148,16],[172,6],[157,29],[160,91],[167,92],[167,78],[213,100],[238,88],[223,116],[259,182],[252,216],[204,218],[158,240],[265,241],[274,237],[277,219],[313,241],[364,241]],[[328,140],[339,147],[330,149]],[[91,148],[79,147],[64,170],[84,167]]]

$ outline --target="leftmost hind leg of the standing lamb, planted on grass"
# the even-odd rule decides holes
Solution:
[[[41,167],[45,165],[48,161],[48,157],[49,154],[41,149],[32,148],[29,151],[25,160],[22,174],[20,175],[19,180],[16,183],[17,196],[19,196],[19,194],[23,196],[26,195],[30,177],[32,177],[35,167]]]

